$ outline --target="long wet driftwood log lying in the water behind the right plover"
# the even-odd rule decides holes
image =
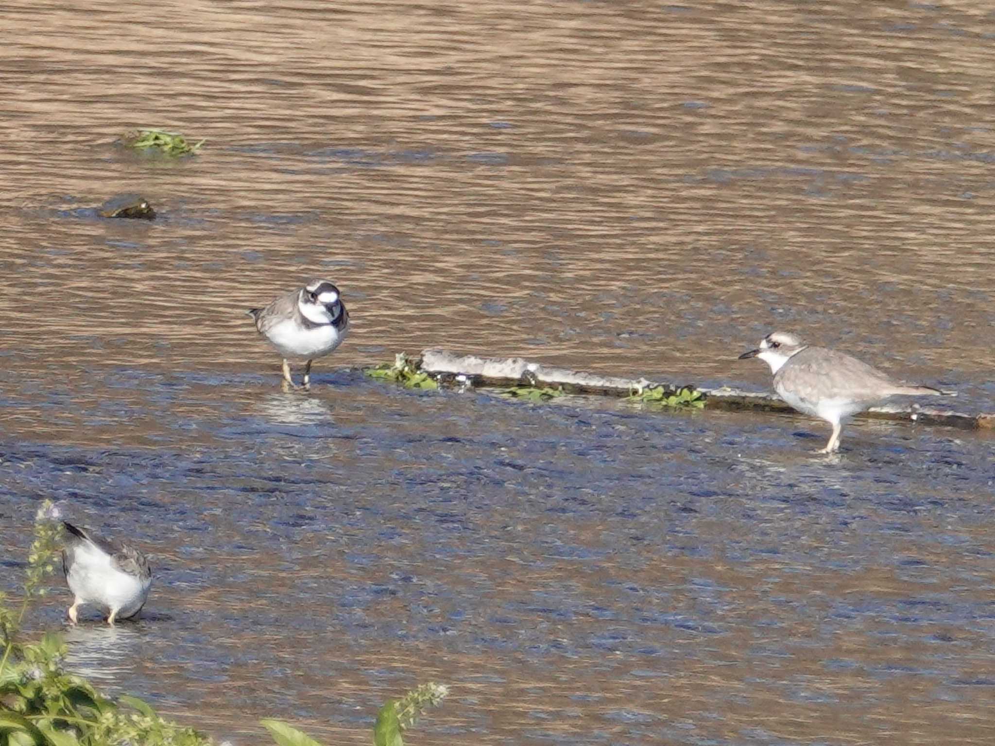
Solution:
[[[597,394],[600,396],[629,396],[646,389],[663,386],[676,392],[682,386],[670,381],[649,381],[599,376],[593,373],[555,368],[532,363],[520,357],[486,358],[476,355],[457,355],[446,350],[427,349],[422,352],[421,370],[442,380],[466,382],[472,386],[549,386],[561,388],[572,394]],[[775,394],[742,391],[723,386],[718,389],[697,388],[707,409],[764,410],[768,412],[794,412]],[[929,425],[946,425],[954,428],[995,428],[995,414],[968,414],[952,412],[916,404],[890,404],[858,415],[880,420],[906,420]]]

